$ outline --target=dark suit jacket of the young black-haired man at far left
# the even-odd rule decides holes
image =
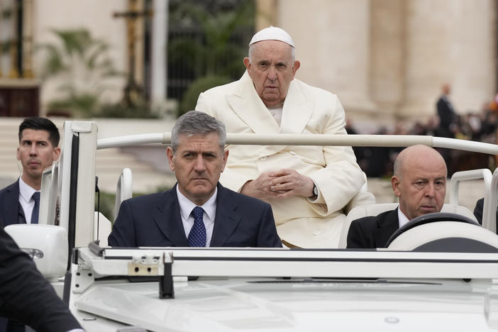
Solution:
[[[0,190],[0,226],[12,223],[26,223],[24,212],[19,204],[19,180]]]

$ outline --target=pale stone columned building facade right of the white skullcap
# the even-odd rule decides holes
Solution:
[[[335,92],[348,118],[424,121],[441,85],[463,114],[492,100],[497,80],[493,0],[258,0],[257,27],[287,30],[299,79]]]

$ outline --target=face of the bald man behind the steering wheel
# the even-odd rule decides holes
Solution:
[[[392,177],[392,188],[409,220],[441,211],[446,195],[446,164],[441,155],[413,151],[406,156],[401,174]]]

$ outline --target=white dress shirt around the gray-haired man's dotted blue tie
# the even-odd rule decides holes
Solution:
[[[211,245],[211,237],[213,236],[214,218],[216,216],[216,194],[218,194],[218,188],[214,189],[213,196],[211,196],[211,198],[209,198],[206,203],[201,206],[201,208],[204,209],[202,221],[204,222],[204,227],[206,227],[206,247]],[[194,226],[194,216],[192,216],[192,210],[197,205],[190,199],[187,199],[187,197],[184,197],[184,195],[179,191],[178,186],[177,197],[185,236],[189,238],[190,230]]]

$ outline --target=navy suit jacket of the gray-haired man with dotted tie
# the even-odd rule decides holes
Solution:
[[[188,247],[176,185],[121,203],[108,238],[118,247]],[[218,183],[211,247],[281,247],[270,204]]]

